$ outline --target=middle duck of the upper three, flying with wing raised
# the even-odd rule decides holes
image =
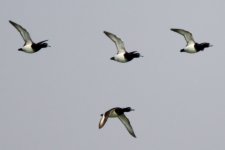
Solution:
[[[134,58],[143,57],[137,51],[127,52],[123,41],[116,35],[107,31],[104,31],[104,33],[116,44],[117,54],[111,57],[111,60],[115,60],[121,63],[126,63],[128,61],[131,61]]]

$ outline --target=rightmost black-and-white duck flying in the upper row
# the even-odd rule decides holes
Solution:
[[[187,45],[185,48],[181,49],[180,52],[187,52],[187,53],[197,53],[199,51],[203,51],[207,47],[211,47],[210,43],[196,43],[192,34],[183,29],[171,29],[174,32],[177,32],[184,36]]]

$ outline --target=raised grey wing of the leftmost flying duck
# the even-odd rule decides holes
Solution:
[[[21,25],[9,20],[9,22],[19,31],[20,35],[23,37],[25,44],[32,43],[30,34]]]

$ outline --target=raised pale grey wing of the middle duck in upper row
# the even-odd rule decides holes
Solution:
[[[107,31],[104,31],[104,33],[116,44],[118,53],[126,52],[124,43],[119,37]]]

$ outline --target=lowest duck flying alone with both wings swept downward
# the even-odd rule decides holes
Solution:
[[[130,111],[134,111],[134,109],[132,109],[130,107],[126,107],[126,108],[115,107],[115,108],[112,108],[112,109],[108,110],[107,112],[105,112],[105,114],[101,114],[102,118],[99,122],[99,129],[101,129],[105,125],[108,118],[118,117],[120,119],[120,121],[123,123],[123,125],[126,127],[127,131],[133,137],[136,138],[136,135],[134,134],[134,131],[130,124],[130,121],[124,114],[124,112],[130,112]]]

